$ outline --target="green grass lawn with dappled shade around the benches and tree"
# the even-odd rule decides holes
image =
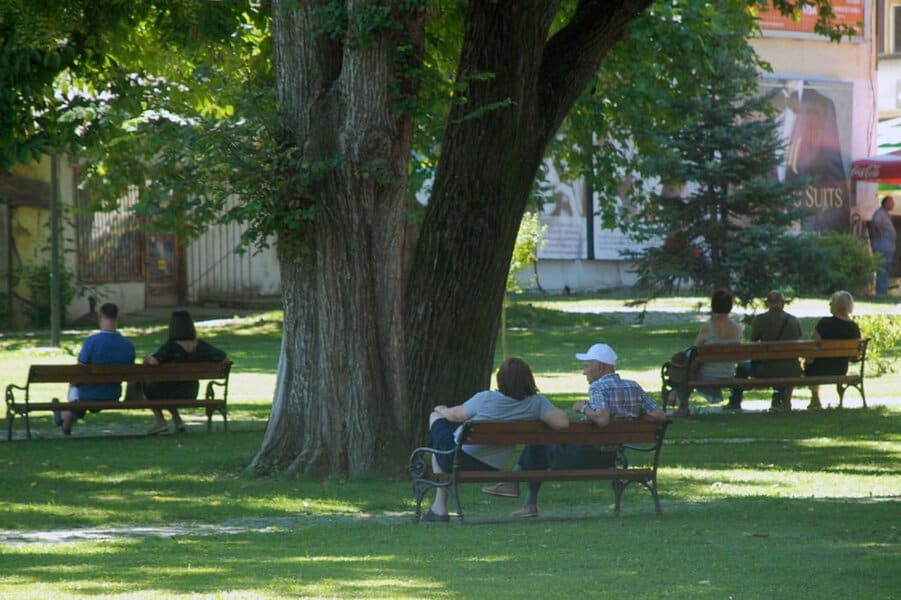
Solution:
[[[660,364],[697,329],[691,299],[666,307],[671,322],[642,325],[592,312],[622,299],[528,302],[525,316],[512,311],[522,320],[510,351],[561,405],[586,387],[574,352],[611,343],[623,373],[653,392]],[[126,333],[146,354],[164,327]],[[0,442],[0,597],[897,597],[894,372],[868,379],[867,410],[852,391],[844,410],[701,409],[676,421],[660,517],[646,491],[627,491],[614,517],[609,484],[566,482],[544,487],[536,520],[511,520],[516,500],[467,486],[466,525],[415,525],[403,464],[355,480],[245,477],[271,404],[278,315],[200,335],[235,359],[229,433],[217,424],[207,434],[195,414],[187,434],[148,438],[149,415],[108,412],[71,438],[36,416],[34,440],[19,424],[15,441]],[[68,352],[41,336],[0,338],[0,383],[23,383],[33,362],[72,362],[83,336],[64,336]]]

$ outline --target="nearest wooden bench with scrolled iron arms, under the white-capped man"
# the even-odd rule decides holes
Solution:
[[[496,481],[610,481],[615,499],[614,513],[619,514],[623,491],[631,484],[639,484],[654,499],[654,507],[660,514],[660,499],[657,496],[657,464],[660,449],[666,433],[668,421],[654,422],[643,419],[616,420],[606,427],[594,423],[570,423],[565,429],[554,430],[541,421],[467,421],[460,433],[460,443],[447,451],[434,448],[417,448],[410,455],[410,476],[413,496],[416,499],[415,521],[422,514],[422,500],[429,490],[446,488],[457,505],[460,523],[463,522],[463,507],[460,503],[459,486],[464,483],[492,483]],[[534,471],[464,471],[460,466],[460,447],[463,444],[489,444],[496,446],[516,446],[521,444],[581,444],[604,446],[616,452],[616,466],[606,469],[560,469]],[[629,451],[627,455],[627,451]],[[634,452],[644,453],[646,460],[642,466],[629,464]],[[433,473],[433,454],[453,453],[451,473]]]

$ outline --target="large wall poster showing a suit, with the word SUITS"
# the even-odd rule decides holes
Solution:
[[[809,231],[848,231],[851,203],[852,84],[766,78],[765,92],[776,90],[785,140],[780,181],[804,180],[800,205]]]

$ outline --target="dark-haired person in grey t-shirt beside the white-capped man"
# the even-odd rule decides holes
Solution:
[[[569,425],[566,413],[551,404],[538,393],[532,369],[521,358],[508,358],[497,370],[498,391],[486,390],[457,406],[436,406],[429,416],[429,446],[435,450],[452,450],[457,445],[460,427],[469,419],[476,421],[526,421],[540,419],[562,429]],[[515,446],[487,446],[464,444],[461,448],[463,467],[466,470],[497,471],[506,466]],[[432,470],[449,473],[453,468],[451,454],[432,455]],[[446,522],[447,490],[435,490],[432,507],[423,515],[423,521]]]

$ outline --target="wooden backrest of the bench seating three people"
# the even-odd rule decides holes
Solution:
[[[778,360],[789,358],[862,359],[869,340],[804,340],[792,342],[750,342],[747,344],[705,344],[698,346],[694,360],[736,362],[738,360]]]

